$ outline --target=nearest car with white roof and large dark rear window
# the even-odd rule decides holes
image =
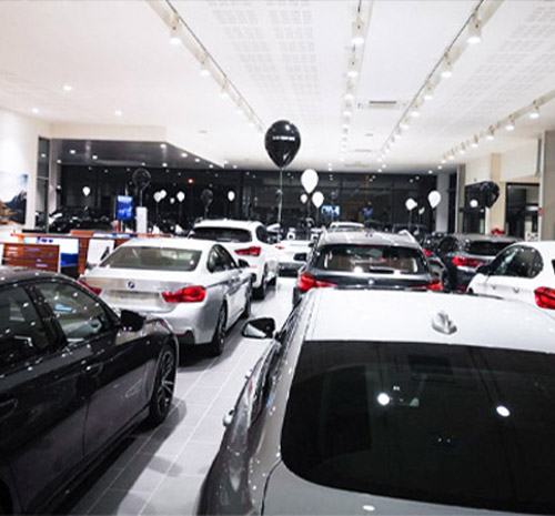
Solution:
[[[317,289],[228,421],[199,514],[555,513],[555,321],[524,303]],[[491,512],[487,512],[491,510]]]

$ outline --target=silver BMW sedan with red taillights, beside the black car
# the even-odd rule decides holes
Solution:
[[[163,317],[184,344],[223,350],[225,331],[251,310],[251,272],[219,243],[134,239],[81,282],[117,308]]]

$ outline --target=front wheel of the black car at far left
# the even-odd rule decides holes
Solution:
[[[170,413],[173,389],[175,388],[176,354],[169,344],[162,346],[158,361],[154,386],[150,398],[149,417],[150,426],[158,426]]]

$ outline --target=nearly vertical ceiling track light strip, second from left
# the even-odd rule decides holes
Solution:
[[[343,102],[341,104],[342,112],[342,135],[340,146],[340,161],[345,161],[345,153],[347,152],[347,140],[351,131],[351,120],[355,107],[355,92],[359,87],[359,78],[361,73],[362,58],[364,55],[364,45],[367,37],[367,28],[372,17],[372,8],[374,2],[370,2],[366,20],[363,20],[362,0],[359,0],[356,8],[355,20],[352,24],[351,33],[351,49],[349,52],[349,60],[346,67],[345,91],[343,94]]]

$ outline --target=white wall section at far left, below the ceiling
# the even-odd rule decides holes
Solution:
[[[39,136],[50,138],[50,124],[0,109],[0,172],[28,175],[28,227],[34,223]]]

